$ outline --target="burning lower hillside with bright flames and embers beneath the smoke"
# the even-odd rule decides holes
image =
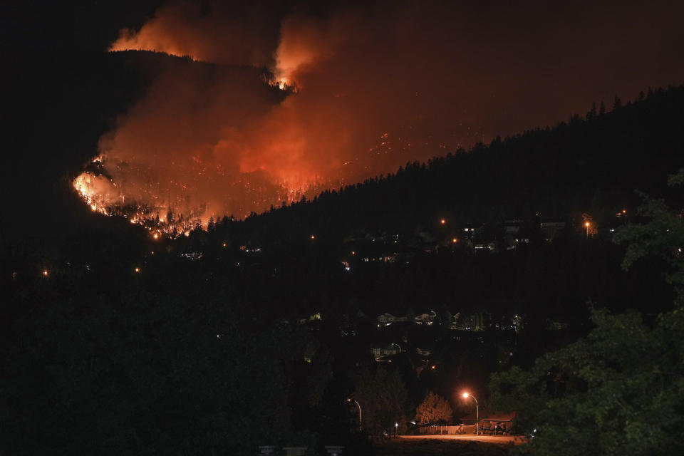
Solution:
[[[271,172],[245,160],[234,182],[226,185],[223,170],[217,167],[212,172],[197,156],[192,157],[192,165],[171,165],[152,168],[98,155],[73,180],[73,188],[91,211],[140,224],[157,240],[163,236],[187,237],[197,227],[207,229],[210,219],[217,222],[229,214],[247,217],[250,212],[265,212],[271,206],[313,197],[339,184],[320,183],[316,177],[294,170]],[[174,172],[171,177],[169,170]],[[222,197],[217,195],[221,190],[212,192],[204,183],[219,179],[223,181],[219,189],[229,190]]]

